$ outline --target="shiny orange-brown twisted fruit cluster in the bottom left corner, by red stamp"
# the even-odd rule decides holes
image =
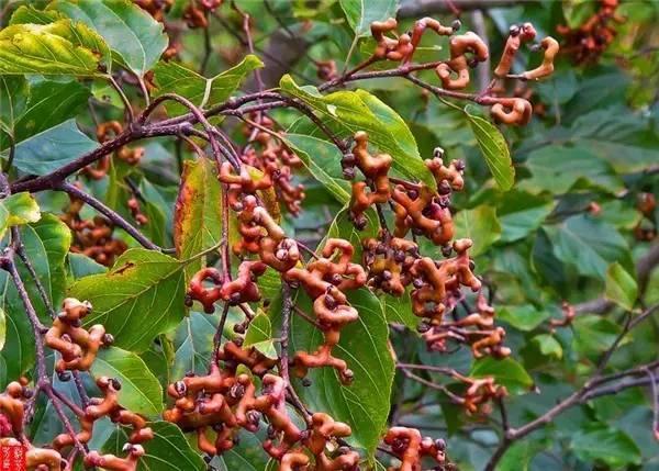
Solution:
[[[57,360],[55,370],[63,381],[68,381],[71,373],[89,370],[99,348],[112,343],[112,336],[105,333],[102,325],[91,326],[89,330],[81,327],[81,321],[90,311],[91,305],[88,302],[66,299],[63,311],[44,334],[44,345],[62,357]],[[65,450],[76,447],[77,450],[85,450],[83,462],[88,467],[102,467],[109,471],[135,471],[138,458],[144,455],[141,444],[153,439],[153,430],[147,427],[144,417],[120,405],[121,383],[118,380],[100,377],[96,384],[101,396],[87,399],[83,406],[63,401],[53,390],[47,389],[51,392],[46,392],[53,401],[63,401],[70,410],[78,427],[75,433],[67,430],[57,435],[49,447],[38,448],[32,445],[25,434],[26,411],[33,407],[35,391],[44,391],[44,388],[49,386],[40,383],[37,389],[30,389],[25,378],[9,383],[4,393],[0,394],[0,445],[22,446],[29,470],[59,471],[67,466],[63,457]],[[93,437],[94,424],[103,418],[130,427],[124,447],[127,452],[125,458],[87,451],[87,445]]]

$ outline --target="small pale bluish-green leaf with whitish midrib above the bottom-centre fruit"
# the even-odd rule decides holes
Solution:
[[[188,371],[205,373],[213,351],[217,318],[198,312],[190,313],[174,335],[171,378],[182,378]]]

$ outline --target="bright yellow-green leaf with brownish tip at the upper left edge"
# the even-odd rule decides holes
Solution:
[[[85,24],[13,24],[0,31],[0,74],[101,76],[102,40]]]

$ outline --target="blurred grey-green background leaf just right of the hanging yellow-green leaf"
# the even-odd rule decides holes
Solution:
[[[533,177],[523,180],[520,188],[533,193],[563,194],[585,186],[615,194],[624,188],[611,165],[585,147],[545,146],[528,155],[526,167]]]

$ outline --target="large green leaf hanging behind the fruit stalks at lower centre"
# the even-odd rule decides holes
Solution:
[[[353,428],[348,441],[367,450],[372,457],[387,426],[394,365],[388,347],[389,330],[378,299],[368,290],[348,295],[359,312],[359,321],[348,324],[334,348],[334,355],[348,362],[355,373],[349,386],[340,383],[332,368],[309,372],[312,385],[295,390],[304,404],[314,411],[326,411],[335,419]],[[304,294],[298,295],[298,305],[311,312]],[[300,316],[293,316],[291,349],[314,351],[322,343],[322,334]]]

